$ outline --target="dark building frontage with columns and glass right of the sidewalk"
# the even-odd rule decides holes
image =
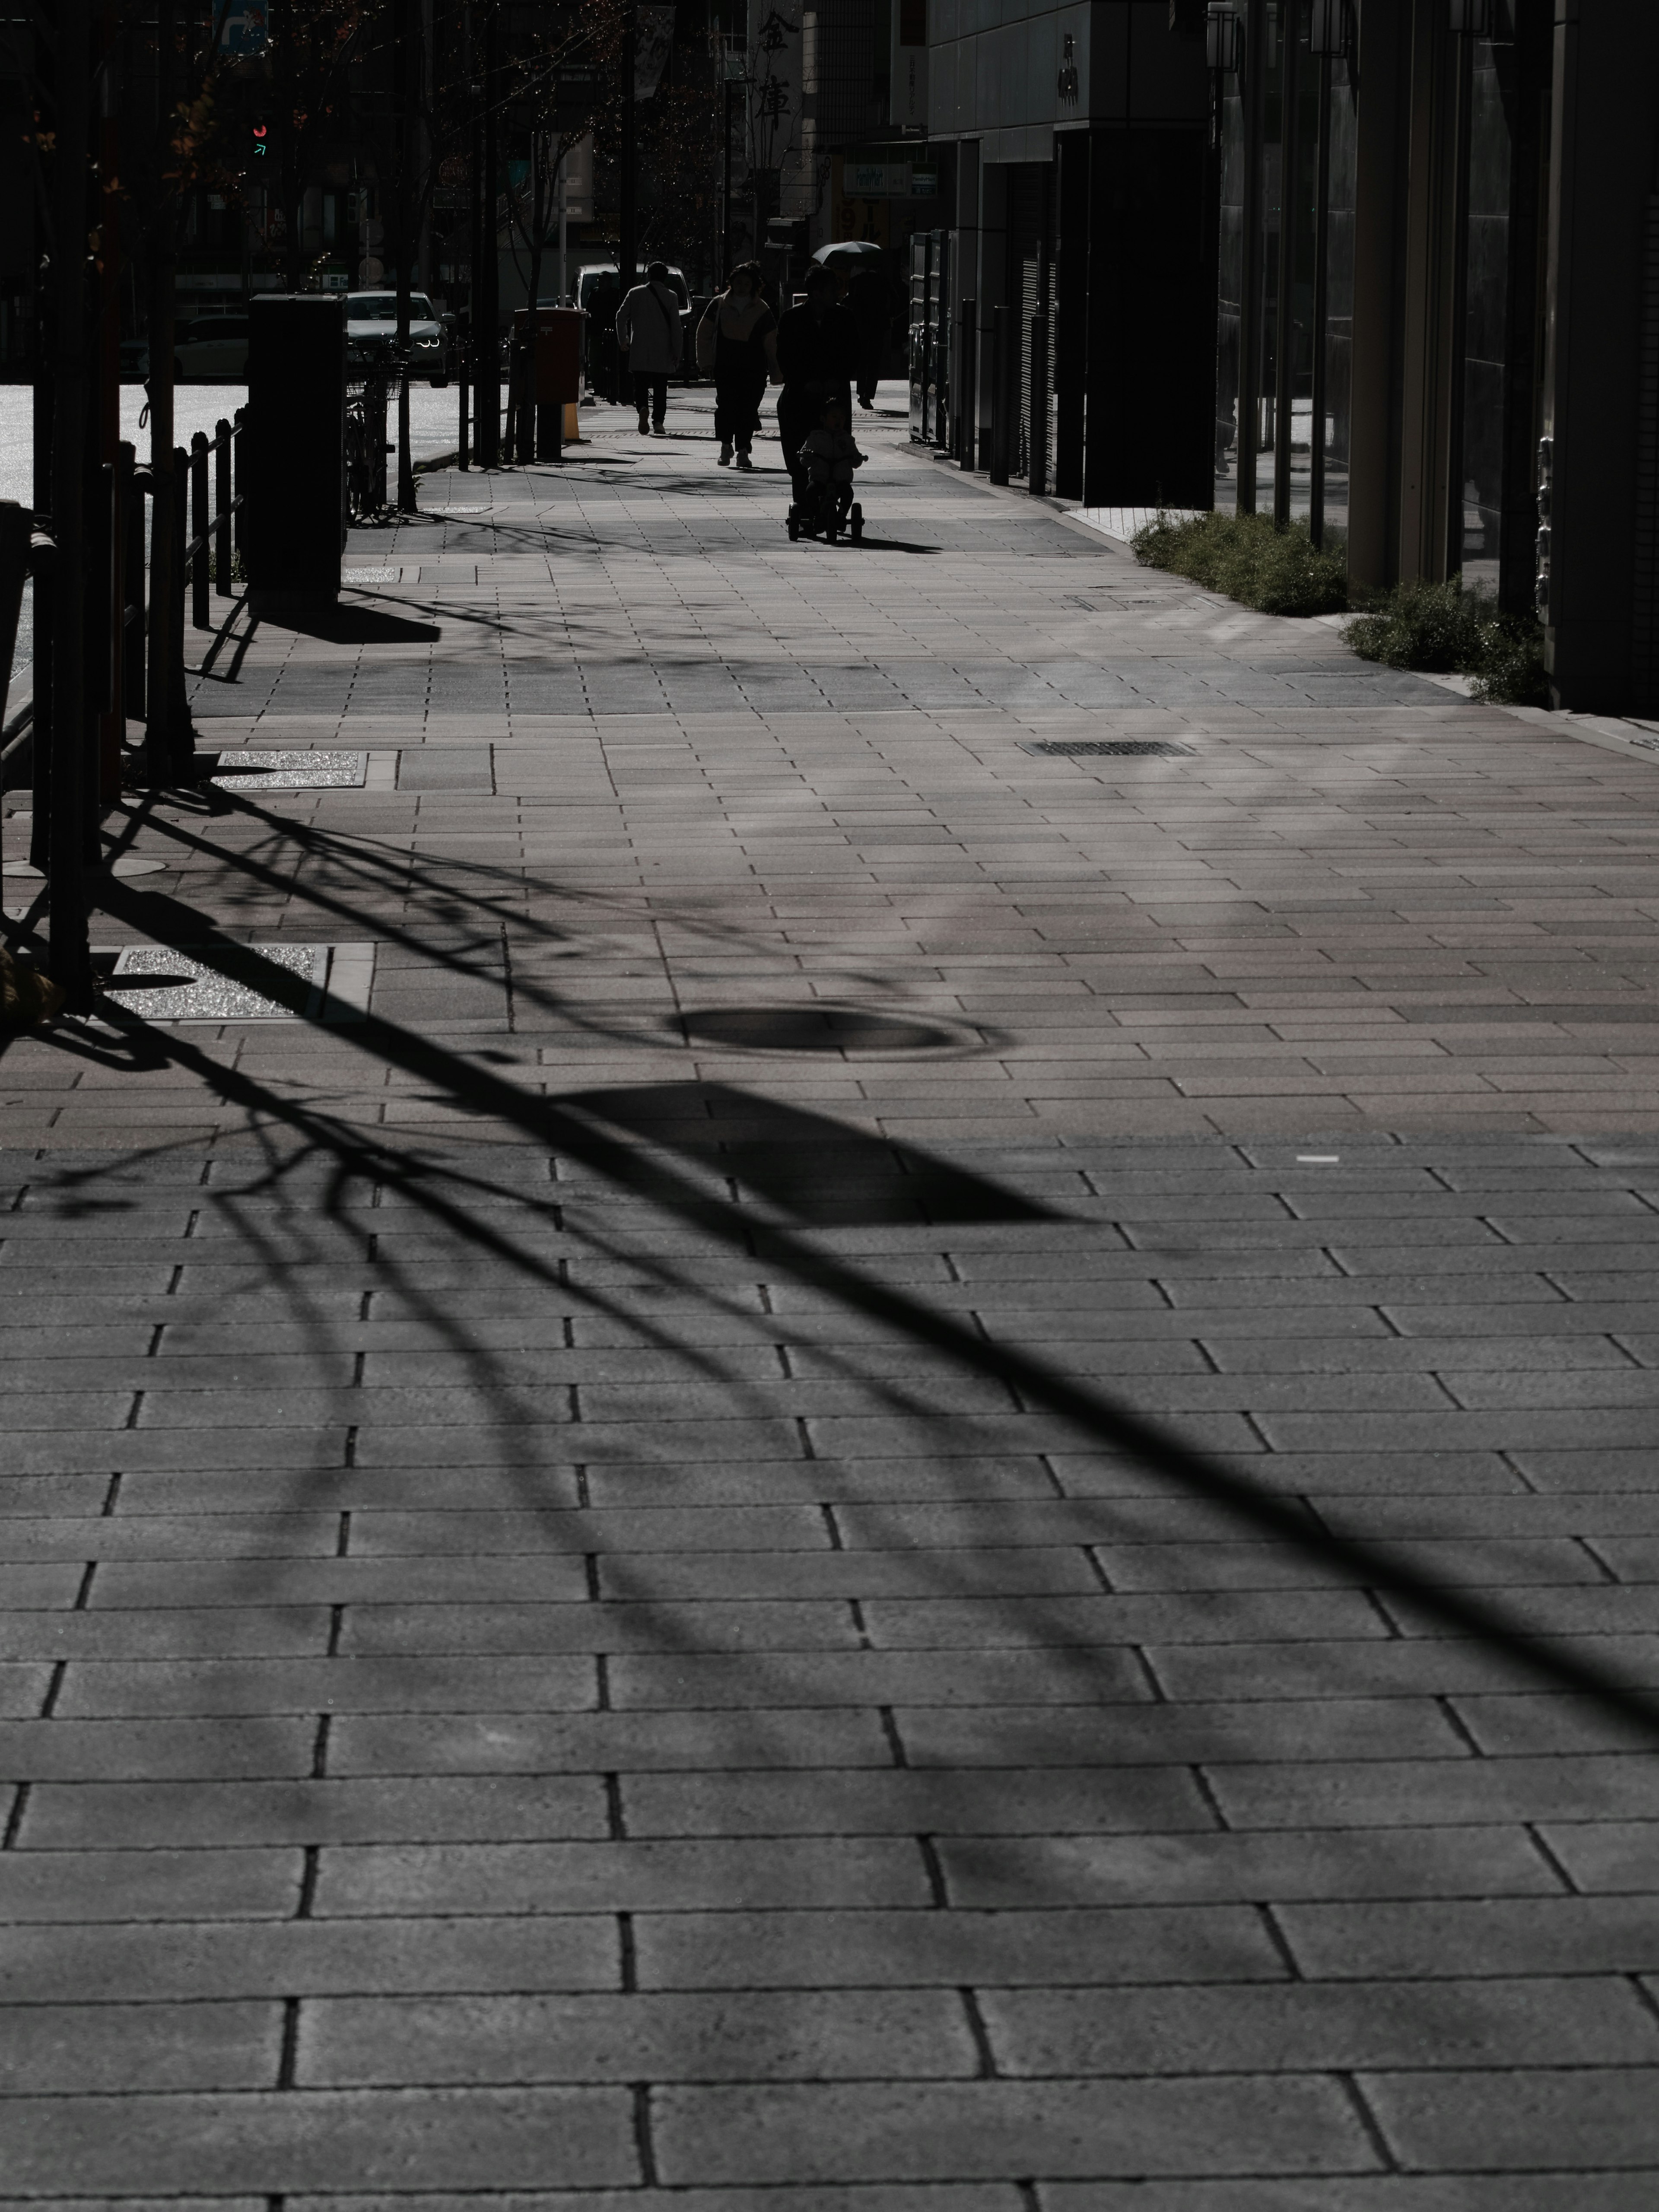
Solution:
[[[929,0],[927,436],[1091,507],[1272,513],[1537,608],[1659,712],[1659,9]],[[1004,403],[1009,369],[1004,363]]]

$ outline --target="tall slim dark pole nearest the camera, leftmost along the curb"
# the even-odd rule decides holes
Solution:
[[[58,0],[53,146],[53,307],[58,407],[51,440],[51,522],[58,542],[51,637],[51,978],[71,1013],[93,1004],[86,940],[86,157],[91,0]]]

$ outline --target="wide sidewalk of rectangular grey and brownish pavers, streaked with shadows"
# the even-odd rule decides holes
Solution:
[[[0,2212],[1644,2212],[1659,765],[626,422],[0,1055]]]

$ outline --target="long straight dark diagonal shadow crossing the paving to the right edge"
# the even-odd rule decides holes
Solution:
[[[184,942],[192,945],[206,967],[234,982],[252,984],[265,998],[290,1006],[296,1015],[303,1013],[310,993],[307,980],[299,978],[292,969],[265,960],[250,947],[221,936],[181,900],[159,891],[137,891],[128,883],[113,880],[104,889],[102,902],[111,914],[117,914],[135,929],[144,929],[161,942],[179,942],[181,933],[190,931]],[[659,1150],[650,1155],[641,1152],[637,1141],[641,1135],[657,1135],[661,1141],[657,1128],[661,1086],[591,1091],[571,1093],[564,1099],[540,1099],[484,1068],[458,1060],[429,1037],[418,1037],[378,1015],[369,1015],[361,1024],[341,1026],[334,1035],[416,1075],[420,1082],[440,1086],[460,1104],[522,1130],[535,1144],[584,1161],[584,1166],[624,1190],[666,1206],[681,1217],[692,1217],[703,1225],[714,1225],[739,1250],[748,1250],[750,1223],[734,1203],[723,1206],[688,1170],[668,1168]],[[217,1077],[228,1088],[237,1086],[234,1071],[217,1071]],[[248,1088],[257,1086],[250,1084]],[[699,1086],[699,1095],[719,1102],[721,1088],[706,1084]],[[728,1108],[748,1104],[745,1095],[737,1091],[726,1091],[723,1102]],[[265,1110],[285,1110],[263,1091],[261,1104]],[[650,1113],[653,1104],[657,1104],[657,1115]],[[774,1117],[776,1108],[765,1106],[765,1113]],[[836,1128],[836,1124],[827,1126]],[[708,1121],[706,1128],[710,1139],[719,1137],[717,1121]],[[960,1175],[960,1170],[945,1170],[942,1164],[940,1172]],[[971,1374],[998,1376],[1024,1402],[1035,1402],[1051,1413],[1060,1413],[1108,1449],[1139,1460],[1141,1467],[1157,1471],[1183,1491],[1214,1500],[1241,1520],[1254,1522],[1256,1528],[1274,1540],[1321,1559],[1347,1577],[1409,1599],[1418,1610],[1433,1615],[1447,1628],[1478,1637],[1555,1688],[1590,1697],[1659,1736],[1659,1708],[1648,1697],[1577,1652],[1555,1650],[1553,1639],[1537,1637],[1504,1606],[1427,1582],[1418,1568],[1407,1559],[1394,1557],[1383,1546],[1358,1537],[1332,1535],[1314,1526],[1298,1504],[1274,1498],[1248,1475],[1194,1451],[1179,1436],[1172,1436],[1128,1407],[1115,1405],[1099,1391],[1086,1389],[1046,1360],[975,1336],[951,1314],[929,1310],[922,1301],[876,1281],[843,1259],[810,1250],[790,1237],[787,1230],[770,1230],[768,1261],[781,1263],[816,1290],[832,1290],[847,1307],[883,1321],[905,1336],[933,1345]]]

